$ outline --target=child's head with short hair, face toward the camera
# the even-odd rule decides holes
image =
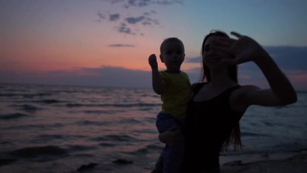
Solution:
[[[170,72],[180,71],[184,61],[184,46],[180,39],[171,37],[165,39],[160,47],[160,59]]]

